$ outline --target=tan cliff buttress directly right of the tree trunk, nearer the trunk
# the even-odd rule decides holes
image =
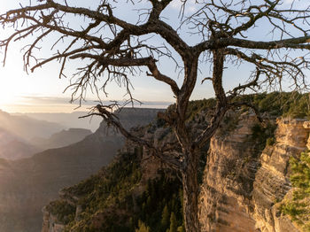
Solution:
[[[255,231],[250,204],[260,166],[258,145],[250,139],[255,123],[255,115],[244,114],[236,128],[211,139],[200,192],[202,231]]]

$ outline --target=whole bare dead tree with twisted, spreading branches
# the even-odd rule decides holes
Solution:
[[[283,0],[198,0],[194,5],[197,12],[189,15],[186,12],[189,3],[181,0],[180,27],[175,30],[168,24],[168,19],[161,18],[171,2],[145,1],[142,12],[139,12],[143,19],[128,23],[115,16],[118,8],[113,7],[115,2],[112,0],[103,0],[97,9],[71,6],[66,0],[32,0],[27,6],[20,4],[19,9],[1,14],[3,27],[15,30],[0,42],[0,46],[4,50],[5,63],[9,45],[31,37],[33,41],[27,44],[23,56],[26,70],[34,71],[56,60],[60,63],[59,77],[65,76],[69,60],[83,60],[86,65],[74,73],[75,82],[70,86],[74,88],[73,97],[80,99],[89,86],[97,89],[97,80],[104,80],[100,86],[104,92],[109,81],[115,80],[125,84],[129,100],[133,101],[130,77],[137,73],[143,75],[139,71],[144,69],[147,69],[148,76],[166,83],[174,94],[176,107],[174,112],[161,114],[161,118],[173,128],[182,152],[169,146],[155,147],[150,141],[131,135],[105,105],[97,105],[94,113],[118,128],[122,135],[147,147],[152,155],[180,171],[185,228],[186,231],[198,232],[198,151],[213,136],[225,112],[238,104],[232,101],[247,89],[255,90],[263,85],[281,88],[285,80],[291,81],[296,89],[306,88],[310,4],[300,6],[298,4],[302,3],[294,0],[289,5]],[[125,4],[139,6],[141,1],[124,1]],[[73,18],[84,19],[86,26],[74,29],[71,27]],[[199,36],[197,44],[189,45],[182,39],[184,27]],[[273,39],[247,39],[257,27],[269,29]],[[166,45],[152,46],[145,35],[157,35]],[[51,50],[54,53],[42,59],[36,50],[40,46],[50,46],[50,40],[53,40]],[[293,57],[295,51],[298,51],[297,58]],[[176,56],[182,59],[182,64],[176,62],[176,66],[182,69],[181,85],[177,84],[175,76],[167,76],[159,70],[161,58],[175,61]],[[237,82],[234,89],[225,91],[223,70],[229,62],[250,63],[254,68],[248,81]],[[212,83],[217,104],[213,119],[205,125],[205,130],[192,137],[186,127],[186,112],[202,64],[211,66],[212,76],[205,81]],[[202,70],[204,73],[209,71]]]

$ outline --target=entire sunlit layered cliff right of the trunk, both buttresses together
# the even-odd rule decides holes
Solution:
[[[304,122],[277,120],[275,144],[262,152],[251,139],[253,115],[242,115],[227,135],[213,136],[200,192],[202,231],[299,231],[278,202],[291,189],[290,158],[306,150]]]

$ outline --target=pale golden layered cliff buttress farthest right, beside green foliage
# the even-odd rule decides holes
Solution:
[[[253,184],[253,219],[263,232],[295,232],[299,229],[288,217],[281,215],[279,203],[291,189],[289,180],[291,157],[297,158],[306,150],[309,128],[305,120],[277,120],[276,143],[260,156],[260,170]]]

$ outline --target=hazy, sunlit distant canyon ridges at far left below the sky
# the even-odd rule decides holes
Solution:
[[[71,114],[71,118],[78,116]],[[80,142],[90,134],[89,129],[66,129],[55,122],[0,110],[0,158],[3,159],[25,159],[47,149]]]

